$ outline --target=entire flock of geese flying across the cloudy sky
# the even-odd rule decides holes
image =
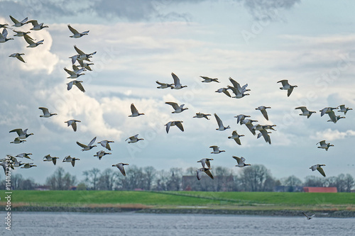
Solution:
[[[16,28],[24,26],[28,23],[31,23],[33,25],[33,28],[31,28],[31,30],[42,30],[43,28],[48,28],[48,26],[43,26],[43,23],[38,24],[38,21],[35,21],[35,20],[27,21],[28,19],[25,18],[25,19],[23,19],[23,21],[17,21],[12,16],[10,16],[10,18],[11,18],[11,21],[13,21],[13,23],[14,23],[13,27],[16,27]],[[0,28],[4,28],[2,33],[0,33],[0,43],[6,43],[8,40],[13,40],[13,38],[7,38],[8,32],[6,29],[9,28],[8,26],[9,26],[8,24],[0,24]],[[89,30],[79,33],[79,31],[75,30],[75,28],[72,28],[72,26],[67,25],[67,27],[69,28],[70,32],[73,34],[73,35],[70,35],[70,38],[81,38],[82,36],[88,35],[88,33],[89,33]],[[11,29],[11,30],[13,30],[13,29]],[[13,36],[23,37],[26,40],[26,42],[28,43],[27,47],[37,47],[38,45],[43,44],[44,40],[34,42],[33,38],[31,38],[31,36],[28,35],[31,33],[31,31],[23,32],[23,31],[13,30],[13,32],[16,33]],[[72,89],[72,86],[75,85],[75,86],[77,86],[77,89],[80,89],[80,91],[84,92],[85,90],[84,90],[84,87],[82,86],[83,82],[80,80],[77,80],[77,79],[79,77],[81,77],[82,75],[84,75],[83,72],[92,71],[92,68],[90,67],[90,65],[93,64],[91,61],[91,58],[93,55],[96,54],[96,52],[92,52],[89,54],[84,53],[76,45],[74,45],[74,49],[77,52],[77,54],[73,55],[72,57],[69,57],[72,62],[72,70],[64,67],[65,72],[67,72],[67,74],[69,74],[69,77],[67,77],[67,79],[73,79],[72,81],[67,83],[67,90]],[[25,62],[25,60],[23,60],[23,57],[22,57],[23,55],[24,55],[24,53],[15,52],[15,53],[11,54],[9,57],[16,57],[21,62]],[[76,64],[76,62],[78,62],[79,64]],[[180,79],[176,74],[171,73],[171,76],[173,77],[172,83],[163,83],[163,82],[156,81],[156,84],[158,84],[157,89],[169,89],[170,88],[170,89],[179,90],[179,89],[184,89],[187,87],[186,85],[181,84]],[[220,83],[219,79],[217,79],[217,78],[210,78],[210,77],[204,77],[204,76],[201,76],[201,78],[203,79],[202,80],[203,83],[212,83],[212,82]],[[228,84],[225,87],[217,89],[217,91],[215,91],[215,92],[220,93],[220,94],[225,94],[226,96],[233,98],[233,99],[242,99],[242,98],[244,98],[244,96],[250,95],[250,94],[246,93],[247,91],[251,91],[250,89],[247,89],[248,84],[244,84],[244,86],[241,86],[238,82],[236,82],[231,77],[229,77],[229,82],[231,84]],[[288,97],[292,94],[293,89],[297,88],[297,85],[290,85],[287,79],[280,80],[277,83],[280,83],[282,85],[280,87],[281,90],[287,91]],[[188,109],[185,107],[185,104],[178,104],[173,101],[167,101],[167,102],[165,102],[165,104],[167,104],[173,108],[173,111],[171,113],[174,113],[174,114],[182,113],[183,111]],[[352,108],[346,108],[345,105],[340,105],[337,107],[326,107],[326,108],[323,108],[322,110],[320,110],[321,116],[324,116],[325,114],[327,114],[329,116],[329,120],[327,120],[327,121],[337,123],[337,121],[339,121],[340,119],[345,118],[344,116],[339,116],[339,115],[337,116],[334,113],[334,110],[337,108],[339,108],[338,112],[344,113],[344,115],[346,115],[347,111],[352,110]],[[52,116],[57,115],[56,113],[50,113],[48,108],[45,108],[45,107],[39,107],[38,109],[40,109],[43,112],[43,115],[40,115],[40,118],[50,118]],[[261,114],[263,115],[263,118],[265,118],[265,120],[269,120],[267,109],[271,109],[271,107],[270,106],[258,106],[257,108],[255,108],[255,110],[258,110],[261,112]],[[307,116],[307,118],[310,118],[312,113],[316,113],[315,111],[309,111],[305,106],[300,106],[295,109],[300,110],[302,112],[302,113],[300,113],[300,116]],[[129,115],[129,117],[136,118],[138,116],[143,116],[143,115],[145,115],[145,114],[139,113],[136,106],[134,106],[134,104],[131,103],[131,115]],[[198,112],[198,113],[196,113],[195,116],[193,116],[193,118],[205,118],[207,120],[210,120],[209,116],[212,116],[212,115],[207,114],[207,113]],[[230,128],[229,125],[225,126],[223,124],[221,118],[219,118],[219,116],[217,116],[217,113],[214,113],[214,118],[217,121],[217,125],[218,125],[216,130],[224,131],[224,130],[227,130]],[[271,145],[271,130],[275,131],[275,129],[273,127],[275,127],[276,125],[254,124],[254,123],[257,123],[258,120],[253,120],[253,119],[251,119],[251,116],[244,115],[244,114],[239,114],[237,116],[234,116],[234,118],[236,118],[237,124],[239,123],[240,125],[246,125],[246,127],[250,130],[252,135],[256,135],[257,138],[263,137],[265,142],[267,142],[268,144]],[[80,122],[81,122],[80,120],[75,120],[75,119],[65,121],[65,123],[67,123],[67,126],[68,127],[71,126],[75,132],[77,131],[77,123],[80,123]],[[166,133],[169,133],[170,128],[173,126],[176,126],[182,132],[184,132],[184,127],[183,127],[182,123],[183,123],[182,120],[168,121],[168,123],[165,124]],[[11,142],[13,144],[21,144],[23,142],[26,142],[26,139],[29,136],[33,135],[33,133],[28,133],[27,128],[26,129],[16,128],[16,129],[13,129],[9,132],[10,133],[17,133],[17,135],[18,135],[18,137],[15,137],[15,139]],[[231,135],[228,136],[228,138],[231,140],[234,140],[237,145],[241,145],[241,137],[244,137],[244,135],[240,135],[239,133],[236,132],[236,130],[233,130],[231,132]],[[82,151],[92,150],[92,148],[97,147],[97,145],[94,145],[94,143],[96,142],[96,138],[97,137],[94,137],[87,145],[84,145],[81,142],[77,142],[77,145],[82,147]],[[136,134],[131,137],[128,137],[125,141],[128,141],[129,144],[132,144],[132,143],[136,143],[140,140],[144,140],[144,139],[139,138],[138,134]],[[110,142],[114,142],[114,141],[102,140],[97,143],[100,144],[102,147],[106,148],[107,150],[111,151],[111,147],[109,145]],[[334,146],[330,143],[326,143],[325,140],[321,140],[320,142],[317,142],[317,145],[318,144],[320,144],[320,146],[318,148],[325,149],[326,151],[329,149],[329,147]],[[212,148],[212,150],[213,150],[211,152],[211,154],[219,154],[221,152],[225,152],[224,150],[219,150],[219,147],[217,145],[210,146],[210,148]],[[102,157],[104,157],[107,154],[111,154],[111,153],[105,152],[104,150],[100,150],[99,152],[97,152],[97,154],[94,155],[94,157],[98,157],[98,159],[102,159]],[[21,166],[22,166],[21,168],[25,168],[25,169],[28,169],[31,167],[36,167],[36,165],[33,163],[22,163],[21,161],[18,162],[18,160],[16,159],[16,158],[31,159],[31,157],[29,157],[30,155],[31,155],[31,153],[21,153],[21,154],[16,155],[15,157],[13,157],[11,155],[7,155],[6,158],[1,159],[1,165],[4,167],[4,171],[6,169],[6,165],[7,165],[6,163],[9,163],[9,165],[12,169],[14,167],[21,167]],[[58,158],[59,157],[51,157],[50,154],[48,154],[45,157],[43,157],[43,161],[44,162],[53,162],[53,164],[56,164]],[[236,160],[235,167],[242,168],[242,167],[246,167],[246,166],[251,165],[251,164],[245,163],[246,159],[244,157],[232,156],[232,158],[234,158]],[[75,167],[75,162],[78,160],[80,160],[80,159],[78,159],[76,157],[71,157],[70,155],[68,155],[63,159],[62,162],[70,162],[72,164],[72,167]],[[213,161],[212,158],[203,158],[203,159],[200,159],[199,161],[197,161],[202,164],[202,167],[198,168],[196,170],[196,173],[197,173],[196,175],[197,175],[198,180],[200,180],[202,178],[202,173],[205,173],[205,174],[207,174],[207,176],[214,179],[214,176],[212,175],[212,172],[211,172],[211,170],[212,170],[211,161]],[[121,171],[121,174],[126,176],[126,172],[124,169],[125,165],[129,165],[129,164],[120,162],[118,164],[113,164],[112,167],[117,167]],[[310,167],[310,169],[312,171],[317,170],[318,172],[320,172],[320,174],[322,174],[322,176],[326,176],[324,173],[324,170],[322,169],[322,167],[324,167],[324,166],[325,166],[325,164],[315,164],[315,165],[312,165],[312,167]]]

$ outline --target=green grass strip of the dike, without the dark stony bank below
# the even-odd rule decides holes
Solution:
[[[5,191],[0,191],[0,205]],[[196,192],[196,191],[13,191],[13,206],[146,206],[250,210],[352,210],[355,193]]]

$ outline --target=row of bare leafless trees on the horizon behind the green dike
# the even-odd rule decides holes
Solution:
[[[351,174],[338,176],[306,176],[301,181],[296,176],[275,179],[271,172],[262,164],[241,169],[240,174],[234,175],[231,169],[215,167],[212,174],[214,179],[204,175],[198,181],[195,168],[171,168],[156,170],[154,167],[129,166],[126,176],[117,169],[104,169],[100,171],[93,168],[83,173],[84,179],[78,181],[77,177],[58,167],[55,172],[45,179],[45,186],[52,190],[68,190],[76,186],[77,190],[146,190],[146,191],[275,191],[275,187],[283,186],[283,191],[300,191],[300,186],[337,187],[339,192],[350,192],[355,187]],[[24,179],[21,174],[11,175],[13,189],[36,189],[40,184],[33,179]],[[0,187],[4,189],[5,183],[1,181]],[[280,188],[279,188],[280,189]]]

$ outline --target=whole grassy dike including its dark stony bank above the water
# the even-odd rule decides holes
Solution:
[[[355,217],[355,193],[12,191],[11,210]]]

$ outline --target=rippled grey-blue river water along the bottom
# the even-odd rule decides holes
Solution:
[[[144,213],[5,212],[0,235],[355,235],[355,218]]]

